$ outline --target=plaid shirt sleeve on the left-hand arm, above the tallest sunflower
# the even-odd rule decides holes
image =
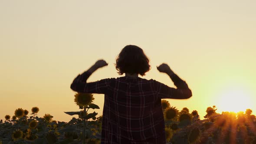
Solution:
[[[97,82],[87,83],[86,81],[91,74],[91,72],[84,72],[82,75],[78,75],[72,82],[70,88],[75,92],[97,94],[107,93],[111,79],[102,79]]]

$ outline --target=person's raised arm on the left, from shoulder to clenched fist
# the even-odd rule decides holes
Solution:
[[[81,75],[78,75],[70,85],[70,88],[75,92],[88,92],[88,93],[99,93],[104,94],[107,89],[110,82],[110,79],[102,79],[97,82],[89,82],[87,83],[87,79],[89,76],[95,72],[97,69],[104,67],[108,65],[107,62],[104,60],[98,60],[95,62],[94,65],[92,65],[91,68],[89,68],[87,71],[82,73]]]

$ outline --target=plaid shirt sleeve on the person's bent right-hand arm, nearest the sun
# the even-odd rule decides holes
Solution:
[[[185,81],[180,79],[176,74],[171,75],[170,78],[177,88],[171,88],[154,80],[155,92],[158,98],[187,99],[192,96],[192,92]]]

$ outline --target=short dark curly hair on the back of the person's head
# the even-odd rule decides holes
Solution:
[[[118,70],[119,75],[130,73],[143,76],[151,69],[151,66],[149,65],[148,57],[140,47],[128,45],[119,53],[115,69]]]

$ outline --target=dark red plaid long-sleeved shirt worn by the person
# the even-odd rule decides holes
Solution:
[[[90,75],[78,75],[71,89],[105,94],[101,144],[166,144],[161,98],[192,96],[186,82],[175,74],[170,78],[177,89],[128,76],[86,83]]]

